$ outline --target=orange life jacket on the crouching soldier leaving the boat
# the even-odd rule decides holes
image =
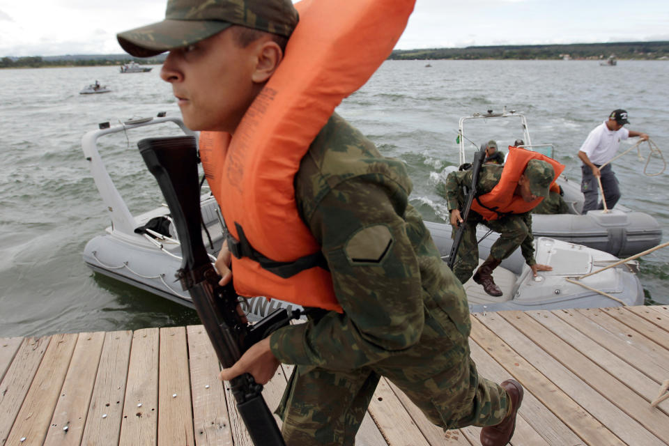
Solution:
[[[528,151],[525,148],[509,146],[509,156],[504,164],[500,182],[487,194],[476,197],[472,201],[472,210],[481,214],[484,220],[498,220],[498,218],[509,214],[522,214],[537,207],[543,197],[533,201],[525,201],[523,197],[515,195],[518,180],[525,171],[530,160],[542,160],[550,163],[555,171],[555,177],[551,182],[551,188],[555,180],[562,174],[564,165],[541,153]]]

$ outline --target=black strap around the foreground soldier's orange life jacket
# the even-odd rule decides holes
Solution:
[[[325,260],[325,256],[323,256],[323,252],[321,251],[302,256],[299,259],[289,262],[279,262],[272,260],[267,256],[264,256],[261,252],[256,250],[251,245],[251,243],[249,243],[249,240],[244,234],[244,229],[239,223],[235,222],[235,228],[237,229],[239,240],[234,238],[229,232],[227,234],[227,240],[228,249],[230,249],[232,255],[237,259],[247,257],[256,263],[259,263],[261,268],[264,270],[268,270],[269,272],[272,272],[272,274],[282,277],[283,279],[293,277],[294,275],[298,274],[298,272],[302,272],[316,266],[323,268],[326,271],[330,270],[330,268],[328,268],[328,262]]]

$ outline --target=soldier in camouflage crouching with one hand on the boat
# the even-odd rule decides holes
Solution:
[[[484,195],[493,190],[502,177],[503,166],[495,164],[484,164],[479,171],[477,183],[477,194]],[[448,174],[445,183],[439,183],[438,193],[447,201],[448,210],[451,213],[450,222],[453,226],[453,234],[459,224],[463,223],[460,210],[465,202],[464,187],[472,184],[472,169],[465,171],[454,171]],[[528,178],[524,182],[518,181],[518,187],[514,194],[521,195],[525,201],[532,201],[537,197],[546,197],[548,186],[553,180],[553,167],[545,161],[531,160],[521,178]],[[525,186],[521,185],[524,184]],[[541,187],[530,190],[531,183],[542,183]],[[528,190],[523,190],[523,188]],[[527,197],[525,197],[527,195]],[[541,265],[535,261],[535,247],[532,238],[532,215],[531,213],[512,214],[500,217],[498,220],[486,221],[481,214],[470,210],[465,224],[461,245],[458,249],[453,272],[461,283],[472,277],[474,268],[479,263],[479,247],[476,240],[477,224],[485,224],[490,229],[500,234],[490,249],[490,256],[479,267],[474,275],[475,282],[482,284],[486,293],[494,296],[502,295],[502,290],[495,284],[491,276],[492,271],[499,266],[502,260],[510,256],[518,246],[525,262],[532,268],[532,273],[537,276],[537,271],[552,270],[550,266]]]

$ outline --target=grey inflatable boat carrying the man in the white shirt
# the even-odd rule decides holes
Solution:
[[[505,122],[495,125],[495,122],[498,121]],[[506,125],[506,121],[510,121],[509,125]],[[460,165],[471,160],[474,151],[478,150],[472,139],[476,138],[482,141],[491,139],[490,136],[486,139],[481,139],[481,136],[472,136],[472,134],[477,134],[476,130],[478,129],[475,124],[485,123],[484,133],[479,130],[479,134],[497,135],[501,132],[507,132],[508,134],[514,121],[519,125],[518,127],[514,125],[513,130],[510,131],[514,132],[520,128],[520,132],[512,133],[512,136],[508,138],[509,144],[516,144],[517,142],[519,143],[518,147],[555,157],[555,149],[552,144],[532,144],[528,121],[525,116],[514,111],[507,112],[505,107],[502,113],[494,113],[492,110],[488,110],[486,113],[475,113],[460,118],[458,130]],[[465,133],[466,126],[468,128],[467,134]],[[479,125],[479,127],[482,126]],[[522,137],[520,137],[521,135]],[[495,137],[495,139],[497,138]],[[503,137],[500,140],[506,141]],[[441,172],[440,177],[443,180],[450,171],[456,169],[457,167],[448,166]],[[620,204],[617,204],[608,213],[603,210],[590,210],[586,215],[581,215],[584,198],[583,193],[580,192],[580,183],[569,180],[562,174],[557,178],[557,184],[562,187],[564,192],[562,198],[567,203],[569,213],[533,214],[532,234],[535,238],[557,238],[599,249],[618,257],[632,256],[661,243],[662,229],[652,215],[633,211]]]

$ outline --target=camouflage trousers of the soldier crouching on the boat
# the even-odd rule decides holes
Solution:
[[[485,224],[500,234],[500,238],[495,240],[490,248],[490,255],[498,260],[504,260],[513,254],[516,248],[523,243],[523,240],[532,233],[532,229],[528,228],[521,215],[509,215],[499,220],[486,222],[479,213],[470,211],[465,223],[465,233],[453,266],[453,272],[461,284],[472,277],[474,268],[479,265],[479,245],[476,238],[476,225],[479,223]],[[455,236],[455,231],[453,229],[453,236]]]

